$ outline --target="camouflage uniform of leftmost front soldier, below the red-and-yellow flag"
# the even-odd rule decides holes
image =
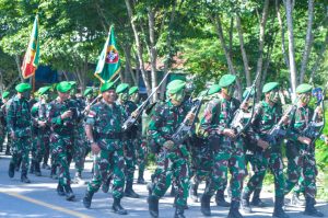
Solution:
[[[12,159],[10,167],[15,165],[22,159],[22,177],[26,177],[28,169],[28,153],[31,150],[32,119],[30,105],[25,99],[15,95],[9,103],[7,113],[9,133],[14,133],[12,139]]]

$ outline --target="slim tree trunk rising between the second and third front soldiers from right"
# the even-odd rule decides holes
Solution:
[[[260,22],[259,45],[258,45],[259,57],[257,59],[257,69],[256,69],[256,74],[259,74],[259,78],[261,78],[262,66],[263,66],[263,47],[265,47],[266,25],[268,21],[268,10],[269,10],[269,0],[266,0],[263,5],[263,11],[262,11],[262,18]],[[258,80],[256,84],[257,90],[260,90],[260,84],[261,81]]]

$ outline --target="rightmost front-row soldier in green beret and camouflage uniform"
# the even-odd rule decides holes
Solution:
[[[294,114],[292,123],[292,137],[289,137],[286,142],[288,157],[288,180],[285,183],[285,194],[288,194],[298,182],[301,173],[304,177],[304,195],[305,195],[305,215],[314,217],[324,217],[324,214],[318,211],[315,205],[316,195],[316,160],[315,160],[315,141],[314,138],[304,135],[304,129],[309,125],[314,113],[317,114],[316,123],[323,121],[320,106],[314,112],[308,106],[312,94],[311,84],[300,84],[296,88],[298,101],[297,110]]]

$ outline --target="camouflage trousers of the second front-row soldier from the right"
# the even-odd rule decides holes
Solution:
[[[280,147],[280,146],[276,146]],[[245,192],[253,193],[259,187],[265,179],[267,169],[270,168],[274,176],[274,192],[276,197],[284,196],[284,176],[283,162],[281,156],[281,148],[267,149],[265,151],[257,151],[253,157],[254,175],[249,179]]]

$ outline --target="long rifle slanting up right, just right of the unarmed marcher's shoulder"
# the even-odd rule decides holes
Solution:
[[[124,131],[127,131],[129,128],[131,128],[136,124],[136,122],[138,121],[138,118],[141,115],[142,111],[145,108],[147,104],[149,103],[150,99],[157,92],[161,84],[165,81],[165,79],[167,78],[168,74],[169,74],[169,72],[167,72],[164,76],[164,78],[162,79],[160,84],[152,91],[152,93],[147,97],[147,100],[144,100],[144,102],[142,102],[142,104],[140,106],[138,106],[138,108],[134,112],[131,113],[131,115],[128,117],[128,119],[125,121],[124,125],[121,126]]]

